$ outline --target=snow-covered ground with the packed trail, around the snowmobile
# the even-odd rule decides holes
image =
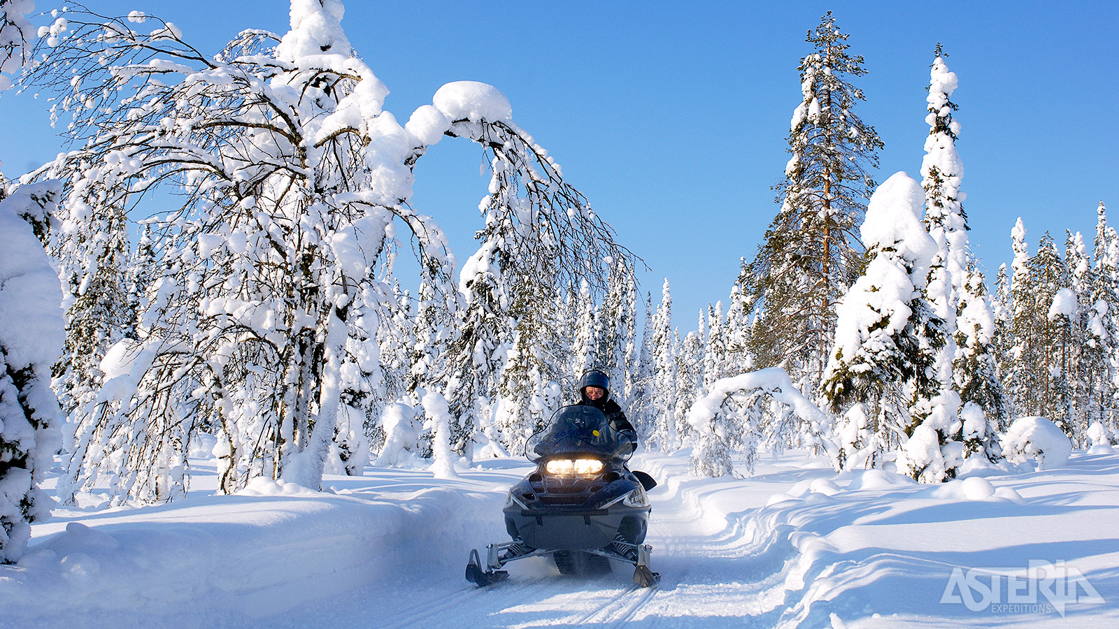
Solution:
[[[203,460],[185,499],[56,508],[35,525],[29,553],[0,566],[0,627],[1119,626],[1119,454],[938,486],[836,475],[805,452],[699,479],[685,454],[636,459],[661,482],[657,588],[621,564],[576,579],[543,558],[468,583],[469,550],[507,538],[500,508],[524,460],[238,496],[215,496]]]

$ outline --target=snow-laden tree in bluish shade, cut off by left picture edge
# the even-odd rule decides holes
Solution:
[[[8,36],[7,32],[2,35]],[[50,515],[40,489],[60,442],[50,368],[65,340],[62,290],[39,238],[60,196],[55,182],[7,196],[0,177],[0,564],[19,561],[30,523]],[[37,237],[38,236],[38,237]]]

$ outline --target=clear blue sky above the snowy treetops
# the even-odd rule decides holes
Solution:
[[[621,242],[673,285],[674,319],[726,299],[777,212],[770,186],[788,160],[805,34],[831,9],[868,74],[856,111],[886,147],[877,180],[920,177],[925,86],[937,43],[959,75],[957,148],[971,243],[993,280],[1022,216],[1031,251],[1044,231],[1091,242],[1096,206],[1119,226],[1116,2],[373,2],[349,0],[342,26],[392,91],[403,123],[444,83],[490,83]],[[47,8],[39,0],[40,8]],[[283,0],[129,2],[182,28],[205,51],[243,28],[288,29]],[[0,97],[0,160],[18,176],[59,150],[45,107]],[[480,225],[481,151],[444,140],[416,167],[414,206],[464,260]]]

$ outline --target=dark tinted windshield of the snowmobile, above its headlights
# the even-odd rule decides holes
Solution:
[[[595,454],[621,461],[629,460],[637,443],[606,422],[594,406],[564,406],[552,416],[552,425],[537,432],[525,444],[529,461],[556,454]]]

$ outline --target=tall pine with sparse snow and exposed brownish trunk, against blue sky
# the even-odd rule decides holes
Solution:
[[[863,92],[848,77],[866,74],[848,51],[829,11],[801,59],[802,100],[792,114],[781,210],[751,264],[762,316],[752,351],[758,365],[786,367],[811,398],[833,345],[835,304],[863,266],[856,229],[874,189],[868,168],[883,147],[874,128],[853,111]]]

